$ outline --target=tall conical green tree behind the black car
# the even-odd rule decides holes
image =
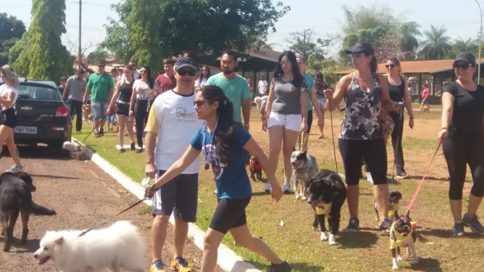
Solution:
[[[24,46],[15,48],[23,49],[13,63],[20,76],[58,81],[72,74],[71,57],[61,41],[66,33],[65,10],[65,0],[32,0],[29,34],[17,41]]]

